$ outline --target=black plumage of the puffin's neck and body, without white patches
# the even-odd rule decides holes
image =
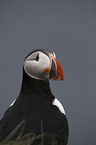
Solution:
[[[28,132],[41,134],[42,122],[44,133],[56,134],[59,144],[66,145],[68,140],[67,118],[58,107],[52,105],[54,99],[49,80],[34,79],[28,76],[23,69],[20,94],[0,122],[0,141],[24,119],[24,134]]]

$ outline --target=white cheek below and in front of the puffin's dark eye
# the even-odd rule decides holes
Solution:
[[[35,79],[49,78],[49,74],[46,74],[44,70],[50,68],[50,59],[47,55],[39,52],[40,58],[36,60],[26,60],[24,62],[25,72]]]

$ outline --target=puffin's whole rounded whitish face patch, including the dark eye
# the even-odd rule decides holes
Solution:
[[[51,69],[51,60],[41,51],[34,52],[24,61],[25,72],[35,79],[48,79],[49,72],[45,72],[48,68]]]

